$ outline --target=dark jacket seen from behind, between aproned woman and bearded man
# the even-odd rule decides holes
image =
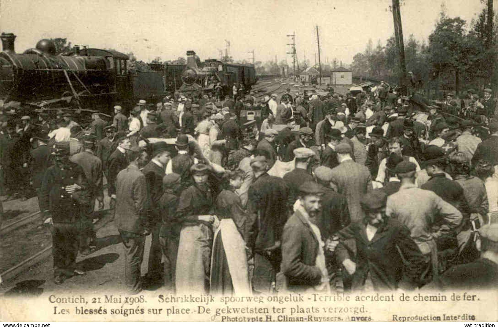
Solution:
[[[282,229],[287,221],[287,198],[285,181],[268,173],[255,178],[249,187],[248,245],[256,252],[273,247],[275,242],[281,240]]]

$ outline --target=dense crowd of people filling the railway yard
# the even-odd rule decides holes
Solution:
[[[462,120],[385,89],[177,92],[129,116],[115,106],[110,125],[94,113],[87,129],[71,113],[23,116],[2,125],[2,182],[36,191],[57,284],[96,247],[105,179],[129,293],[496,286],[491,90]]]

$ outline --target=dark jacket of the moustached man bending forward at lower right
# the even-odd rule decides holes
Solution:
[[[352,223],[339,231],[339,235],[342,241],[356,241],[353,290],[361,289],[369,272],[375,290],[395,290],[398,287],[411,289],[416,286],[425,265],[424,257],[410,237],[410,230],[398,220],[389,218],[384,226],[379,227],[371,241],[368,240],[363,222]],[[341,242],[336,248],[338,263],[350,258],[350,250],[344,245]],[[398,248],[407,263],[405,268]]]

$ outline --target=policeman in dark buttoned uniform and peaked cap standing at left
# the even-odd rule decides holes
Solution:
[[[46,224],[52,230],[52,255],[54,257],[54,282],[62,284],[75,274],[79,245],[79,225],[83,208],[88,206],[90,186],[83,168],[69,161],[69,143],[55,146],[55,164],[47,168],[41,185],[41,205]]]

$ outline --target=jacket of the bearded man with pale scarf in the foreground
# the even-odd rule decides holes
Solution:
[[[315,266],[319,241],[306,218],[296,211],[283,227],[281,270],[290,291],[306,291],[320,284],[322,272]]]

